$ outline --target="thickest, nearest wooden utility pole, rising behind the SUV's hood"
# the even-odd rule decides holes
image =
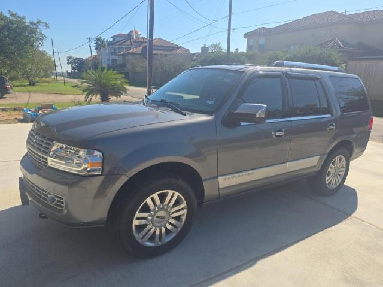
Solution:
[[[153,84],[153,29],[154,29],[154,0],[148,0],[148,39],[146,46],[146,95],[149,97],[152,94],[152,84]],[[146,99],[144,98],[144,103],[146,103]]]

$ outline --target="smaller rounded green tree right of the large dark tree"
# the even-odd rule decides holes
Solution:
[[[35,86],[42,78],[49,77],[53,69],[52,57],[45,51],[35,50],[24,59],[23,76],[28,80],[29,86]]]

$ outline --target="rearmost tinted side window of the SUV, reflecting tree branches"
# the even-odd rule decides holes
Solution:
[[[342,112],[368,111],[366,91],[359,79],[330,77]]]

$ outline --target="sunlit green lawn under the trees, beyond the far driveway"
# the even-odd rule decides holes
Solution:
[[[41,94],[68,94],[79,95],[81,90],[77,87],[77,83],[66,82],[39,82],[36,86],[29,86],[28,82],[12,82],[13,92],[16,93],[41,93]]]

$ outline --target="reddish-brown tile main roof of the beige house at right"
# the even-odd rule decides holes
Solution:
[[[345,15],[336,11],[326,11],[309,15],[298,20],[294,20],[276,27],[260,27],[244,34],[244,38],[249,35],[277,33],[288,30],[303,29],[320,25],[341,23],[345,21],[356,21],[359,23],[383,20],[383,10],[372,10],[355,14]]]

